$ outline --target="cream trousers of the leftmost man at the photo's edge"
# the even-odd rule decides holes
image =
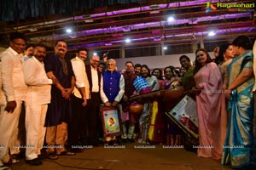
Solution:
[[[9,148],[16,148],[14,144],[17,144],[22,101],[16,100],[16,104],[13,113],[4,111],[6,105],[1,106],[0,110],[0,160],[3,162],[9,161]]]

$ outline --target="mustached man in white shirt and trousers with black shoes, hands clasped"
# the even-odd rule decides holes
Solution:
[[[40,165],[38,159],[43,148],[46,127],[44,121],[50,102],[50,88],[55,81],[49,79],[44,70],[46,48],[43,45],[34,47],[34,56],[23,65],[25,82],[28,85],[26,94],[26,162]]]

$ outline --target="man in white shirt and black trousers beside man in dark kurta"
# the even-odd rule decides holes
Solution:
[[[90,85],[85,71],[85,59],[87,59],[86,48],[79,48],[76,57],[71,59],[76,82],[72,95],[73,114],[67,126],[67,143],[73,152],[83,151],[77,145],[82,144],[81,139],[84,139],[87,133],[85,122],[88,120],[85,117],[85,105],[87,105],[87,99],[90,99]]]

